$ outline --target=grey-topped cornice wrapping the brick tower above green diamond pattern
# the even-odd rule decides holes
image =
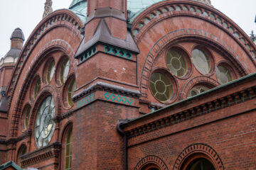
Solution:
[[[92,84],[86,89],[80,91],[79,94],[75,94],[73,96],[73,100],[78,101],[78,99],[81,98],[82,96],[86,96],[87,94],[90,94],[92,91],[96,91],[99,89],[103,89],[104,91],[117,91],[122,94],[126,94],[127,96],[133,96],[134,98],[139,98],[139,96],[141,95],[139,91],[136,91],[134,89],[128,89],[122,86],[116,86],[116,85],[107,84],[105,82],[98,81],[97,83]]]

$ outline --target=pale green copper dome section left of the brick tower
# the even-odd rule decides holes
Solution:
[[[85,24],[87,18],[87,0],[73,0],[68,9],[73,11],[80,18],[80,21]]]

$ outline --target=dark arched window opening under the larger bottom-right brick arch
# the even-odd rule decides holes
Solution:
[[[205,158],[196,159],[186,170],[215,170],[213,164]]]

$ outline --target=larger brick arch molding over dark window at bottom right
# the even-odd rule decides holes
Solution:
[[[188,147],[183,149],[181,154],[178,155],[176,162],[174,163],[173,170],[180,170],[184,161],[189,156],[191,156],[191,154],[196,153],[206,154],[208,157],[210,157],[211,161],[215,163],[216,167],[218,168],[216,170],[224,170],[223,162],[221,161],[220,156],[217,154],[217,152],[215,152],[212,147],[202,143],[189,145]]]

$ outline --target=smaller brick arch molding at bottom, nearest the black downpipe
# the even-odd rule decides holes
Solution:
[[[134,170],[142,170],[142,168],[146,164],[156,164],[157,166],[159,166],[161,170],[169,170],[164,161],[161,158],[154,155],[149,155],[142,158],[135,166]]]

